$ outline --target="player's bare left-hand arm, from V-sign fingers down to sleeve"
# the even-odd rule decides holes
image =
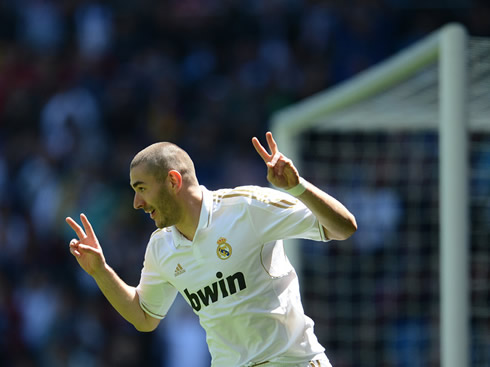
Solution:
[[[126,284],[106,263],[102,247],[84,214],[80,215],[83,228],[72,218],[66,222],[75,231],[78,239],[70,241],[70,252],[78,264],[91,275],[111,305],[138,331],[154,330],[160,320],[149,316],[139,304],[135,287]]]

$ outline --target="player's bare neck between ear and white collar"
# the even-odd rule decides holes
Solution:
[[[197,226],[201,216],[202,192],[199,186],[189,187],[183,195],[184,216],[182,221],[175,225],[182,235],[189,241],[194,240]]]

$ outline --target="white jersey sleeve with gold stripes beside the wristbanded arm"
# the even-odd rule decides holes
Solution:
[[[257,235],[263,242],[303,238],[328,241],[323,226],[301,201],[278,190],[262,188],[267,200],[249,208]]]

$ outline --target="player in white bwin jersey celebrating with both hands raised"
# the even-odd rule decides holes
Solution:
[[[106,263],[83,214],[83,228],[66,219],[78,236],[70,252],[139,331],[154,330],[180,292],[206,331],[213,367],[328,367],[282,240],[343,240],[357,224],[339,201],[300,177],[270,132],[266,139],[270,153],[257,138],[253,146],[268,181],[287,193],[257,186],[209,191],[189,155],[168,142],[134,157],[134,208],[158,227],[137,287]]]

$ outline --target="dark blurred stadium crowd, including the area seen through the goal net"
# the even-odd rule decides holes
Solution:
[[[132,209],[138,150],[171,140],[208,188],[266,185],[250,138],[275,111],[447,22],[489,37],[488,19],[488,2],[469,0],[1,2],[0,365],[209,366],[182,300],[151,334],[112,310],[69,254],[64,217],[85,212],[108,262],[136,285],[153,230]],[[302,245],[305,308],[334,366],[439,366],[437,139],[303,138],[316,162],[308,175],[360,228],[343,243]],[[471,365],[483,367],[490,138],[471,139]]]

